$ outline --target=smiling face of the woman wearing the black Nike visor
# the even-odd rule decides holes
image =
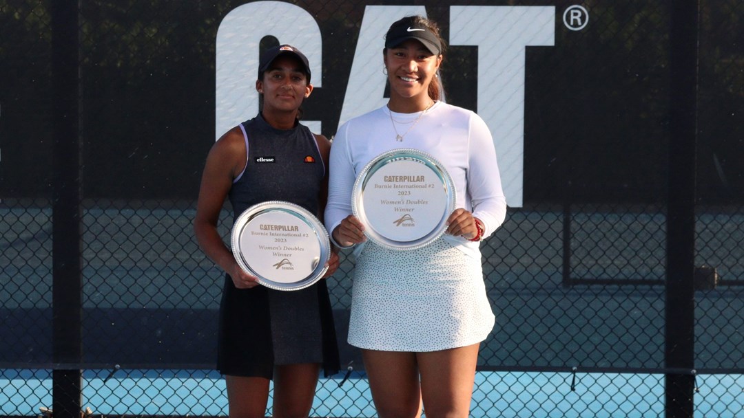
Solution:
[[[391,96],[410,98],[428,94],[429,83],[437,74],[442,56],[432,54],[416,39],[408,39],[385,50],[384,60]]]

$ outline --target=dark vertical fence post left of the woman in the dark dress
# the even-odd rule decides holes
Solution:
[[[82,275],[80,270],[80,123],[78,1],[51,2],[54,167],[52,312],[55,418],[82,411]],[[73,366],[79,368],[79,366]]]

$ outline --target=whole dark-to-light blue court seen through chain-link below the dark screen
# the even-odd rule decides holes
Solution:
[[[484,273],[497,324],[481,348],[481,360],[510,370],[577,365],[580,373],[478,373],[472,417],[663,416],[665,381],[655,372],[665,364],[665,288],[565,286],[562,215],[511,212],[501,236],[484,246],[484,256],[493,259]],[[36,416],[40,407],[51,407],[51,371],[16,369],[44,367],[39,365],[51,364],[53,358],[50,216],[49,209],[0,210],[8,225],[3,238],[12,237],[8,231],[23,224],[28,232],[28,237],[13,241],[19,256],[9,258],[2,272],[7,284],[0,291],[0,353],[6,369],[0,369],[0,416]],[[110,378],[110,370],[83,373],[83,407],[97,416],[228,412],[219,374],[173,369],[207,368],[215,356],[223,276],[185,232],[192,218],[190,209],[85,212],[83,363],[130,365]],[[568,244],[574,254],[583,254],[580,263],[569,263],[572,278],[609,274],[618,281],[664,280],[665,221],[660,213],[588,212],[572,219],[574,239]],[[722,277],[731,280],[744,277],[742,224],[738,212],[700,215],[699,239],[714,245],[700,245],[698,264],[716,265]],[[721,230],[732,233],[720,239]],[[39,246],[37,240],[48,245]],[[131,257],[127,252],[140,247],[138,254],[157,252],[157,257]],[[600,247],[603,251],[597,253]],[[344,274],[329,279],[334,311],[340,315],[336,325],[341,348],[352,269],[344,264]],[[728,374],[696,377],[694,417],[744,418],[742,312],[744,298],[738,287],[695,295],[695,365]],[[349,359],[342,356],[344,363]],[[163,369],[135,370],[132,365]],[[172,370],[165,370],[169,367]],[[592,369],[647,373],[581,373]],[[363,374],[354,374],[341,388],[341,374],[333,377],[320,380],[312,416],[375,417]]]

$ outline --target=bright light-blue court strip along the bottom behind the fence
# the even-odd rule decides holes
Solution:
[[[109,370],[83,373],[83,406],[103,415],[226,415],[225,382],[204,370],[147,370],[107,379]],[[51,373],[5,370],[0,379],[0,414],[36,415],[51,407]],[[122,373],[122,372],[120,372]],[[361,373],[341,385],[321,378],[315,417],[375,417]],[[744,417],[744,376],[696,377],[694,417]],[[10,389],[10,390],[9,390]],[[13,393],[7,396],[6,393]],[[664,376],[626,373],[478,372],[472,417],[661,417]]]

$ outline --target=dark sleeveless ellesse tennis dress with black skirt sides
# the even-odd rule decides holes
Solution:
[[[234,219],[267,200],[288,201],[318,214],[325,166],[310,129],[298,123],[278,130],[260,114],[241,128],[248,161],[229,193]],[[275,365],[295,363],[322,363],[326,376],[339,370],[326,281],[294,291],[237,289],[225,275],[219,307],[219,372],[271,379]]]

